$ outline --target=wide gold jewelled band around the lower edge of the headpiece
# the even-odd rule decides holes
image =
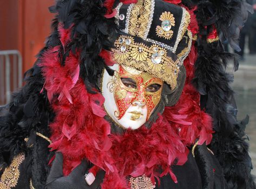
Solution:
[[[175,88],[180,61],[167,56],[167,51],[158,45],[146,46],[135,43],[130,36],[120,36],[115,42],[113,60],[121,65],[130,66],[145,71],[154,77],[160,78]]]

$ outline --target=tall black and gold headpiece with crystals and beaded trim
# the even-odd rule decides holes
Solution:
[[[116,11],[121,32],[113,60],[161,78],[174,89],[180,66],[191,50],[189,12],[161,0],[120,3]]]

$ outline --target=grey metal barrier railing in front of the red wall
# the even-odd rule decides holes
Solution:
[[[9,103],[12,91],[21,86],[21,53],[18,50],[0,51],[0,105]]]

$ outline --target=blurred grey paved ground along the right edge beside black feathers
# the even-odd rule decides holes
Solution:
[[[230,67],[230,66],[229,66]],[[234,72],[235,99],[238,106],[238,119],[248,114],[250,123],[246,127],[246,133],[250,138],[250,154],[256,176],[256,55],[246,55],[244,61],[240,61],[239,70]]]

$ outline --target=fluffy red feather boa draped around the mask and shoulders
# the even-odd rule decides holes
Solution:
[[[197,31],[195,17],[189,25],[193,35]],[[61,42],[70,42],[70,31],[59,27]],[[70,53],[65,66],[60,65],[56,46],[44,53],[40,66],[45,78],[44,89],[56,113],[49,125],[51,150],[63,153],[63,172],[69,174],[83,158],[91,161],[96,173],[99,167],[106,171],[102,188],[129,188],[127,176],[146,174],[154,177],[170,174],[177,182],[170,165],[187,160],[187,147],[199,139],[199,144],[212,138],[212,120],[200,109],[200,95],[191,85],[196,49],[185,60],[186,84],[179,102],[166,107],[163,115],[150,129],[128,130],[122,136],[110,133],[110,124],[103,118],[104,98],[100,93],[88,93],[79,73],[79,53]],[[106,57],[106,52],[102,56]],[[161,167],[162,172],[159,173]]]

